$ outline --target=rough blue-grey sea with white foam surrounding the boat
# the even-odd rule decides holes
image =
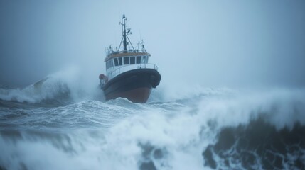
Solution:
[[[93,94],[53,77],[1,88],[0,169],[305,169],[304,89]]]

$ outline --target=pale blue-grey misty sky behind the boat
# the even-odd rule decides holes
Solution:
[[[0,84],[105,72],[125,14],[163,86],[305,86],[305,1],[0,1]]]

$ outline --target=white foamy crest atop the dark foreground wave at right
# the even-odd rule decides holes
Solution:
[[[236,126],[263,115],[279,128],[292,128],[298,121],[305,124],[305,90],[274,89],[271,91],[238,92],[235,96],[211,96],[199,104],[204,120],[218,125]]]

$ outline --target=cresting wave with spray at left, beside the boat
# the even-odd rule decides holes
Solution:
[[[76,68],[68,68],[41,79],[35,84],[23,89],[0,88],[0,100],[26,103],[42,103],[61,105],[82,101],[87,98],[102,98],[102,91],[98,89],[98,82],[91,83],[83,79]],[[90,87],[88,87],[90,84]]]

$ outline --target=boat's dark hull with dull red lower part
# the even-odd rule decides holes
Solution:
[[[156,88],[161,75],[156,69],[133,69],[119,74],[102,87],[106,100],[127,98],[134,103],[146,103],[152,88]]]

